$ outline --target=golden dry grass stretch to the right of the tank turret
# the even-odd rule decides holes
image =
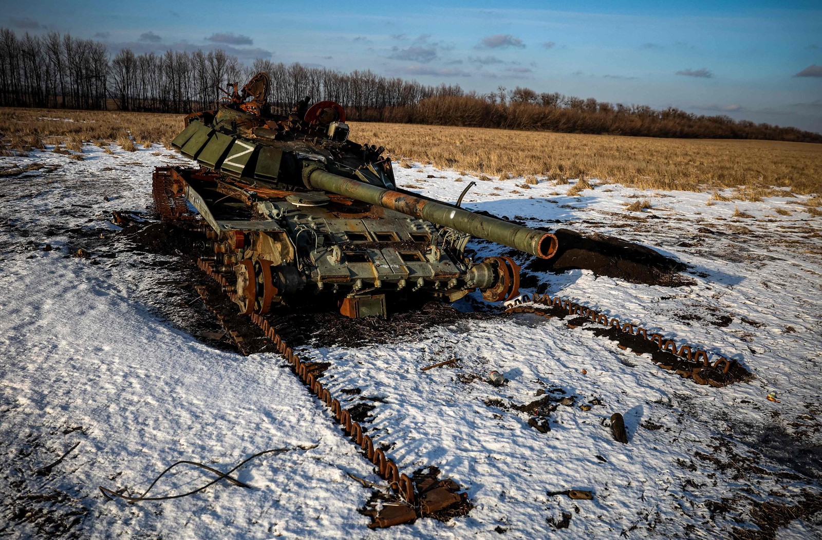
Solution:
[[[478,127],[351,122],[351,138],[395,159],[516,177],[598,178],[648,189],[702,192],[746,186],[822,192],[822,145],[781,141],[656,139]],[[373,137],[373,139],[371,138]],[[457,144],[459,143],[459,144]]]

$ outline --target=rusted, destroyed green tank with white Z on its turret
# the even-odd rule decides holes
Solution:
[[[172,145],[200,168],[154,173],[159,214],[205,234],[200,265],[240,312],[327,302],[386,316],[393,302],[475,289],[500,302],[519,294],[520,269],[507,256],[478,260],[471,238],[541,259],[556,251],[552,233],[396,187],[385,149],[350,141],[339,104],[273,108],[269,87],[259,73],[189,115]]]

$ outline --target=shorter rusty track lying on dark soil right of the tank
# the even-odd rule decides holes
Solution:
[[[541,309],[540,305],[550,308],[551,311]],[[556,316],[562,319],[566,316],[575,316],[568,323],[571,328],[588,322],[596,323],[607,329],[594,330],[597,335],[605,335],[617,341],[620,348],[630,348],[636,354],[651,353],[651,359],[659,367],[676,372],[682,378],[700,385],[721,388],[737,381],[744,381],[750,376],[750,372],[741,367],[736,360],[729,360],[718,354],[711,358],[703,349],[693,348],[689,344],[679,346],[673,339],[667,339],[659,333],[649,335],[649,330],[640,325],[630,322],[622,324],[617,317],[608,319],[604,313],[559,296],[551,298],[545,294],[529,298],[525,295],[523,300],[515,301],[514,305],[507,307],[506,313],[533,313],[547,318]],[[580,319],[581,324],[572,324]]]

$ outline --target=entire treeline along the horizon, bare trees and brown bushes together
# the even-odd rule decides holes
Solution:
[[[337,72],[299,63],[256,59],[252,65],[220,49],[111,53],[104,44],[51,32],[18,38],[0,29],[0,105],[43,108],[117,108],[191,113],[213,107],[229,83],[268,72],[270,104],[290,108],[305,96],[342,104],[352,120],[443,126],[496,127],[630,136],[770,139],[822,142],[822,135],[726,115],[677,108],[655,110],[500,88],[465,92],[459,85],[423,85],[370,70]]]

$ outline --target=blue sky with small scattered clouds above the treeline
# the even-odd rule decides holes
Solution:
[[[822,132],[820,2],[8,2],[113,49],[225,48],[488,92],[528,86]],[[797,74],[802,74],[797,76]]]

